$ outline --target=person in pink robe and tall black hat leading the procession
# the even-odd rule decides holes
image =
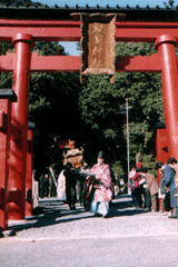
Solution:
[[[109,165],[105,164],[102,151],[98,154],[98,162],[93,165],[90,174],[95,175],[90,212],[93,212],[97,217],[108,218],[109,201],[112,198],[113,190]]]

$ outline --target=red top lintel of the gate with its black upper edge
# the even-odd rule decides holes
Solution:
[[[116,41],[149,41],[158,36],[178,38],[178,7],[156,8],[0,8],[0,40],[10,41],[16,33],[29,33],[34,41],[79,41],[80,21],[71,13],[116,13]],[[125,14],[123,17],[120,14]]]

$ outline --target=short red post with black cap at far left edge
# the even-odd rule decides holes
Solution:
[[[11,89],[0,89],[0,229],[8,229],[9,152],[11,102],[17,96]]]

